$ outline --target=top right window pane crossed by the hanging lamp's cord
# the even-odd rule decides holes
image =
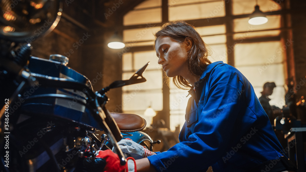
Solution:
[[[229,2],[229,0],[225,0]],[[233,15],[251,14],[254,12],[256,1],[255,0],[231,0],[233,4]],[[262,12],[272,12],[281,10],[278,3],[272,0],[258,0],[259,9]]]

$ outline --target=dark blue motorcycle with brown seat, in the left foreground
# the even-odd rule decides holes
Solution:
[[[66,66],[67,57],[31,57],[30,42],[57,25],[59,1],[0,0],[0,7],[0,170],[103,171],[105,161],[95,158],[99,150],[114,149],[126,163],[117,144],[123,137],[152,151],[155,142],[140,131],[143,118],[106,108],[107,91],[145,82],[148,64],[95,92]]]

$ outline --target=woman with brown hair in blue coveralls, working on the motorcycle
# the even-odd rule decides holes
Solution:
[[[222,61],[211,63],[201,36],[184,21],[164,24],[155,37],[158,63],[176,86],[190,88],[192,97],[180,143],[168,151],[138,159],[145,157],[142,146],[119,142],[123,152],[135,155],[137,171],[205,172],[209,166],[214,172],[288,170],[285,151],[241,72]],[[131,162],[130,170],[135,168]]]

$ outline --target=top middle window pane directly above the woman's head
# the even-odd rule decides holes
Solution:
[[[191,4],[191,5],[190,5]],[[169,21],[225,16],[224,1],[205,2],[169,7]]]

